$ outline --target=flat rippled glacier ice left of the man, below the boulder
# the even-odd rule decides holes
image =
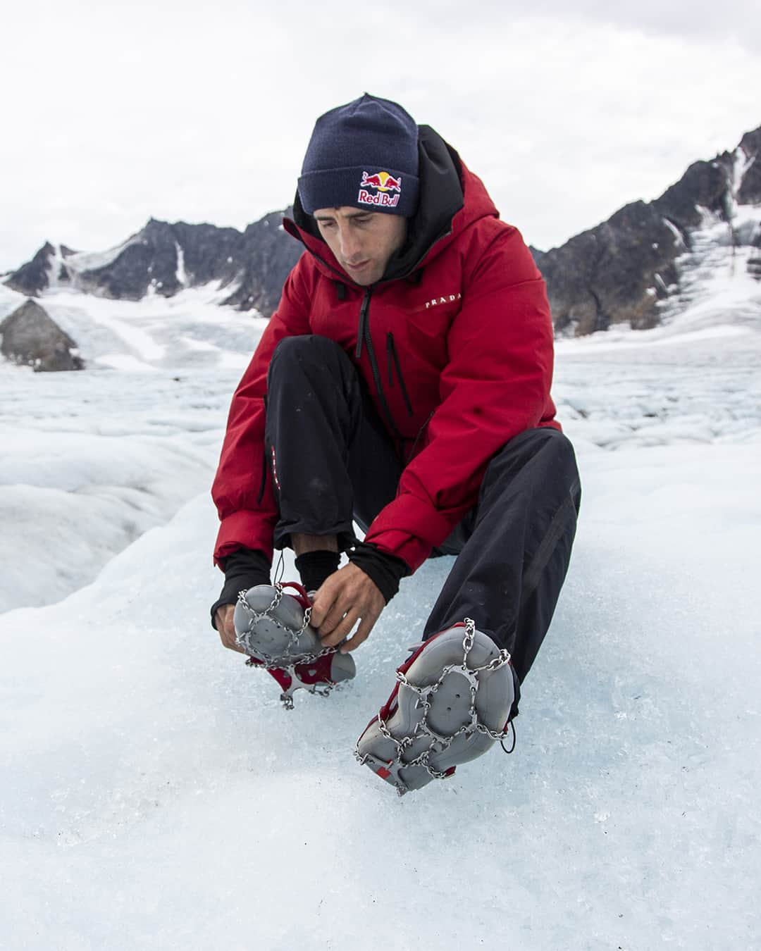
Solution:
[[[209,376],[0,366],[0,611],[76,591],[207,491],[234,386]]]

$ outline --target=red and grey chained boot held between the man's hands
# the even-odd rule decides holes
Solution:
[[[286,594],[293,588],[295,594]],[[326,695],[356,673],[354,658],[336,648],[323,648],[309,626],[311,602],[301,585],[257,585],[241,592],[235,606],[236,642],[249,655],[251,667],[263,667],[283,690],[281,700],[293,708],[300,688]]]

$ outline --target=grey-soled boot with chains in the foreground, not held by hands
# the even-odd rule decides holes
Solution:
[[[507,735],[510,654],[469,618],[424,641],[357,741],[356,756],[400,795],[444,779]]]

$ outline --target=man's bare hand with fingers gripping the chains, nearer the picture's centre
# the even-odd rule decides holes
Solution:
[[[320,635],[322,646],[334,648],[361,619],[357,633],[341,646],[341,653],[346,653],[367,639],[385,606],[375,582],[349,562],[331,574],[315,594],[309,623]]]

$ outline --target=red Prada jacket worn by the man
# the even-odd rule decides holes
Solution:
[[[535,426],[559,429],[544,281],[517,229],[498,220],[481,181],[450,154],[459,164],[461,207],[448,233],[397,280],[352,283],[322,240],[285,220],[307,250],[232,399],[212,488],[222,520],[215,560],[241,546],[272,555],[278,512],[271,474],[261,468],[263,398],[283,337],[319,334],[340,343],[400,454],[412,457],[396,498],[366,534],[411,571],[474,506],[489,459],[508,439]]]

